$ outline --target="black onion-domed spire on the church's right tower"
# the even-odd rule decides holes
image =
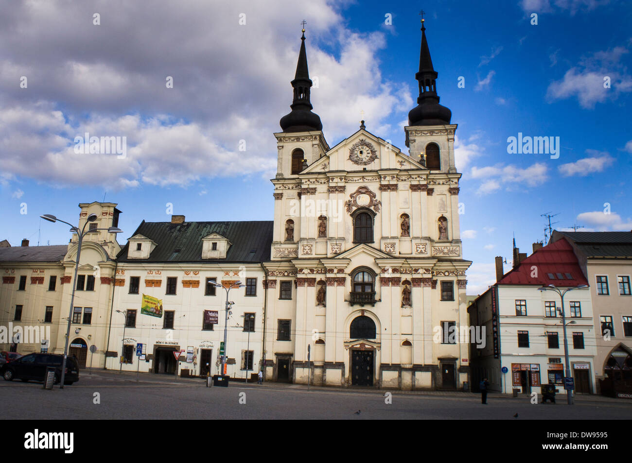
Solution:
[[[432,66],[426,28],[422,20],[422,48],[419,55],[419,72],[415,79],[419,81],[418,105],[408,112],[408,125],[435,126],[446,125],[452,119],[452,111],[439,104],[437,95],[437,72]]]

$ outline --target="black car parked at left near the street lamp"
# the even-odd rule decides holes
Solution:
[[[61,354],[43,354],[35,352],[27,354],[12,362],[6,363],[0,368],[0,373],[6,381],[14,379],[27,382],[28,380],[44,381],[46,367],[56,369],[55,383],[61,380],[61,365],[64,356]],[[79,364],[75,357],[66,358],[66,375],[64,385],[71,385],[79,380]]]

